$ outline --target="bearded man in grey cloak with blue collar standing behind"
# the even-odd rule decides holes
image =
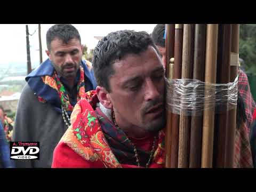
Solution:
[[[74,26],[52,26],[46,44],[49,59],[26,77],[13,133],[14,141],[39,141],[39,160],[16,161],[16,167],[51,167],[53,149],[70,125],[74,106],[96,87]]]

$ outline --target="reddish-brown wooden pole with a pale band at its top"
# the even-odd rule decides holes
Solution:
[[[181,78],[182,66],[182,47],[183,47],[183,24],[175,25],[175,43],[174,43],[174,79]],[[172,114],[172,130],[171,130],[171,167],[178,167],[178,149],[179,149],[179,126],[180,115]]]

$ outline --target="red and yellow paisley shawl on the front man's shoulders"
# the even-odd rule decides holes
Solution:
[[[71,125],[60,142],[66,143],[86,161],[101,161],[105,167],[109,168],[122,167],[102,131],[102,124],[98,119],[99,115],[97,116],[97,111],[95,111],[97,102],[98,98],[95,91],[87,92],[85,99],[77,102],[71,114]],[[160,131],[153,163],[163,164],[163,157],[164,132]]]

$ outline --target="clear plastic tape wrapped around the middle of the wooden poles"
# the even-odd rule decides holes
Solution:
[[[237,105],[238,76],[227,84],[205,83],[197,79],[165,79],[167,110],[186,116],[234,109]]]

